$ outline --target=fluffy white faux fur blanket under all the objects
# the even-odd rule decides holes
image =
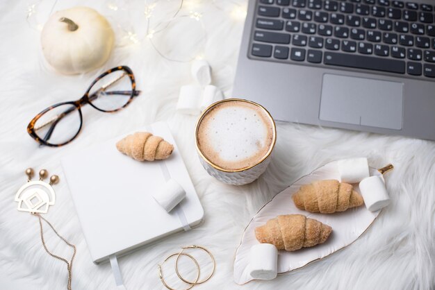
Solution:
[[[47,19],[53,1],[0,3],[0,289],[66,288],[65,264],[44,252],[38,220],[17,212],[13,201],[15,192],[26,181],[27,167],[46,168],[60,176],[61,181],[56,185],[58,199],[47,219],[77,246],[72,288],[116,288],[109,264],[92,264],[60,157],[154,121],[169,123],[201,199],[205,219],[190,232],[174,234],[120,258],[127,289],[165,289],[158,279],[157,263],[179,246],[190,244],[206,246],[217,262],[213,278],[194,289],[435,289],[434,142],[278,123],[275,154],[265,174],[251,185],[223,185],[208,176],[199,164],[194,140],[196,117],[175,113],[179,87],[192,82],[190,63],[169,61],[156,53],[144,37],[143,1],[127,2],[74,0],[56,4],[54,10],[92,6],[108,15],[115,28],[117,45],[113,56],[99,71],[82,76],[61,76],[44,65],[40,31],[34,28]],[[202,53],[213,67],[214,84],[227,97],[231,96],[243,31],[243,20],[236,19],[240,15],[237,9],[240,9],[238,5],[245,6],[245,2],[186,1],[188,7],[181,15],[189,15],[190,11],[202,13],[206,31],[204,46],[201,22],[189,17],[171,24],[170,31],[156,34],[152,40],[156,46],[165,49],[170,46],[172,49],[166,52],[174,58],[188,59],[189,53]],[[40,11],[26,22],[28,4],[32,3],[40,3],[45,8],[40,6]],[[125,9],[110,10],[109,4]],[[159,5],[173,11],[177,1],[160,0],[156,10]],[[125,38],[122,28],[133,30],[138,35],[138,43]],[[142,89],[141,96],[129,107],[116,114],[84,108],[81,135],[61,148],[39,148],[27,135],[26,126],[35,114],[51,104],[79,99],[95,76],[116,65],[129,65],[136,75],[138,89]],[[275,280],[254,281],[245,286],[235,284],[234,253],[256,211],[304,174],[332,160],[355,156],[367,156],[372,167],[389,162],[395,166],[386,177],[392,203],[370,230],[338,253],[279,275]],[[69,248],[45,228],[49,248],[69,257]],[[202,262],[206,261],[204,257]]]

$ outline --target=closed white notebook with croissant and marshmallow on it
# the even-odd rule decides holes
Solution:
[[[149,131],[163,137],[174,145],[174,152],[167,160],[133,160],[115,147],[117,141],[130,134],[125,133],[61,160],[95,263],[103,262],[113,254],[124,255],[189,226],[194,227],[204,216],[166,123],[154,123],[136,131]],[[169,214],[151,196],[165,184],[168,173],[186,190],[186,198]]]

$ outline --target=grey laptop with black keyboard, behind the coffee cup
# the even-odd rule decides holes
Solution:
[[[249,0],[233,96],[281,121],[435,140],[434,5]]]

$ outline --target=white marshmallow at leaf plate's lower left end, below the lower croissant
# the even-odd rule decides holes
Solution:
[[[251,248],[249,274],[254,279],[272,280],[278,273],[278,250],[272,244],[258,244]]]

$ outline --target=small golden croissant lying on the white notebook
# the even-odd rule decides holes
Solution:
[[[121,139],[116,148],[133,159],[154,161],[166,159],[174,151],[174,146],[162,137],[148,132],[136,132]]]

